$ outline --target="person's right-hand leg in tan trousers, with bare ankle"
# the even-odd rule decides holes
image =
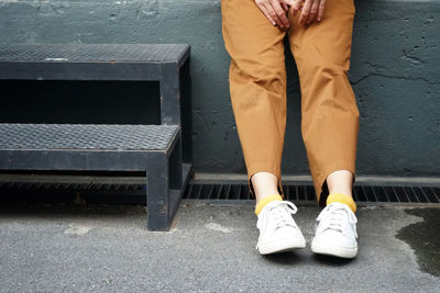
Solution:
[[[348,79],[355,7],[327,0],[323,19],[309,25],[290,18],[289,43],[301,90],[301,133],[318,202],[352,195],[359,109]]]

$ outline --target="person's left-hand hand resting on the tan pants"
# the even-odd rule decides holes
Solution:
[[[286,11],[292,8],[294,15],[299,11],[304,0],[255,0],[256,5],[273,25],[289,27]]]

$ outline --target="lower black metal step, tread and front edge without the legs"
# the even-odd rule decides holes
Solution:
[[[145,171],[148,154],[169,154],[179,125],[0,124],[2,170]]]

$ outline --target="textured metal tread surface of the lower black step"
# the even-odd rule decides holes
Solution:
[[[0,124],[0,150],[167,149],[179,125]]]

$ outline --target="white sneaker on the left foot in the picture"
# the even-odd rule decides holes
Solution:
[[[260,229],[256,249],[261,255],[306,247],[306,239],[292,216],[297,210],[288,201],[272,201],[263,207],[256,222]]]

